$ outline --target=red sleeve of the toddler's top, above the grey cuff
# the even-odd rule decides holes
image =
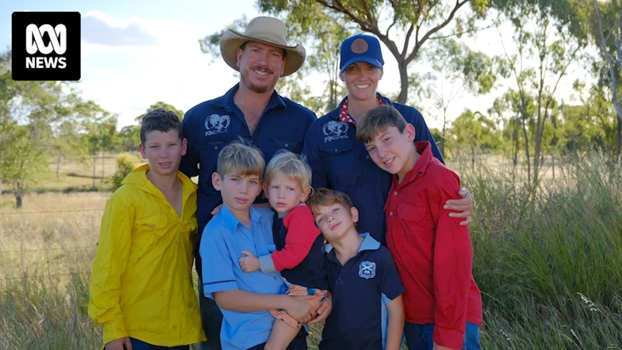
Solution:
[[[277,271],[297,267],[307,257],[313,242],[320,235],[320,229],[315,225],[313,213],[308,206],[292,209],[283,217],[283,225],[287,229],[285,247],[271,254]]]

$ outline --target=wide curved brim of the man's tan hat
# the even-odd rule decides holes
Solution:
[[[299,70],[300,67],[302,67],[302,65],[305,63],[305,58],[307,54],[305,48],[300,44],[297,44],[295,46],[279,45],[275,44],[274,42],[268,42],[266,40],[261,40],[239,34],[238,32],[229,29],[220,38],[220,54],[222,55],[226,64],[228,64],[229,67],[237,70],[238,72],[238,49],[242,46],[242,44],[244,44],[244,42],[247,41],[261,42],[262,44],[272,45],[287,51],[287,60],[285,60],[285,67],[283,69],[283,74],[281,75],[281,77],[287,77],[287,75],[291,75],[297,72],[297,70]]]

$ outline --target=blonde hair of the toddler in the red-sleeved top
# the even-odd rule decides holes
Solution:
[[[282,173],[285,177],[297,181],[301,189],[311,187],[311,167],[304,156],[290,151],[278,151],[266,166],[266,183],[269,184],[275,174]]]

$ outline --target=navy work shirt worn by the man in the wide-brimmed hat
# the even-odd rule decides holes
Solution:
[[[241,137],[261,149],[267,164],[279,149],[300,153],[305,131],[317,120],[315,113],[274,91],[251,136],[244,114],[233,103],[238,87],[239,83],[225,95],[193,106],[182,121],[188,151],[182,157],[179,169],[188,177],[198,175],[197,218],[200,234],[211,219],[211,210],[222,202],[220,192],[211,185],[211,174],[216,171],[218,153],[223,147]],[[258,201],[266,202],[265,199]]]

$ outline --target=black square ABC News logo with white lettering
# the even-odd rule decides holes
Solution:
[[[80,12],[13,12],[13,80],[80,80]]]

